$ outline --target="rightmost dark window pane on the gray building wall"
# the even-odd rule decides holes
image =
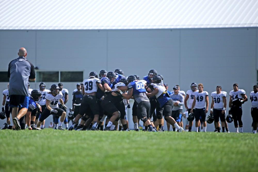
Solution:
[[[83,72],[60,72],[60,82],[82,82]]]

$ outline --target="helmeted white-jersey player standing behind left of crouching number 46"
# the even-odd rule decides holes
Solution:
[[[41,106],[41,111],[39,111],[39,109],[38,109],[36,117],[34,116],[34,112],[35,111],[33,111],[31,113],[31,124],[30,125],[33,125],[33,126],[34,126],[35,122],[37,123],[38,118],[41,115],[41,113],[46,109],[46,99],[45,99],[45,96],[46,96],[47,93],[50,92],[49,89],[46,89],[46,84],[43,83],[43,82],[39,83],[39,91],[41,92],[42,100],[40,102],[36,102],[36,103],[38,103]],[[35,121],[35,122],[33,122],[33,121]],[[54,122],[54,115],[53,115],[53,122]],[[40,128],[44,129],[44,127],[45,127],[45,120],[42,122]]]

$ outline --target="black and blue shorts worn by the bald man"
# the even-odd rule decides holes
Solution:
[[[29,97],[25,95],[10,95],[9,107],[19,107],[28,109]]]

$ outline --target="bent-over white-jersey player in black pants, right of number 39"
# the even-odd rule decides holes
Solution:
[[[114,127],[114,122],[121,120],[124,131],[130,131],[127,128],[125,105],[123,102],[123,96],[119,92],[119,86],[126,86],[126,79],[120,79],[119,83],[113,86],[112,92],[108,94],[101,102],[101,107],[104,111],[109,113],[110,119],[104,131],[111,130]]]

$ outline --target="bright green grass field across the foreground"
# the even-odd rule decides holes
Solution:
[[[248,133],[0,131],[0,171],[257,171]]]

